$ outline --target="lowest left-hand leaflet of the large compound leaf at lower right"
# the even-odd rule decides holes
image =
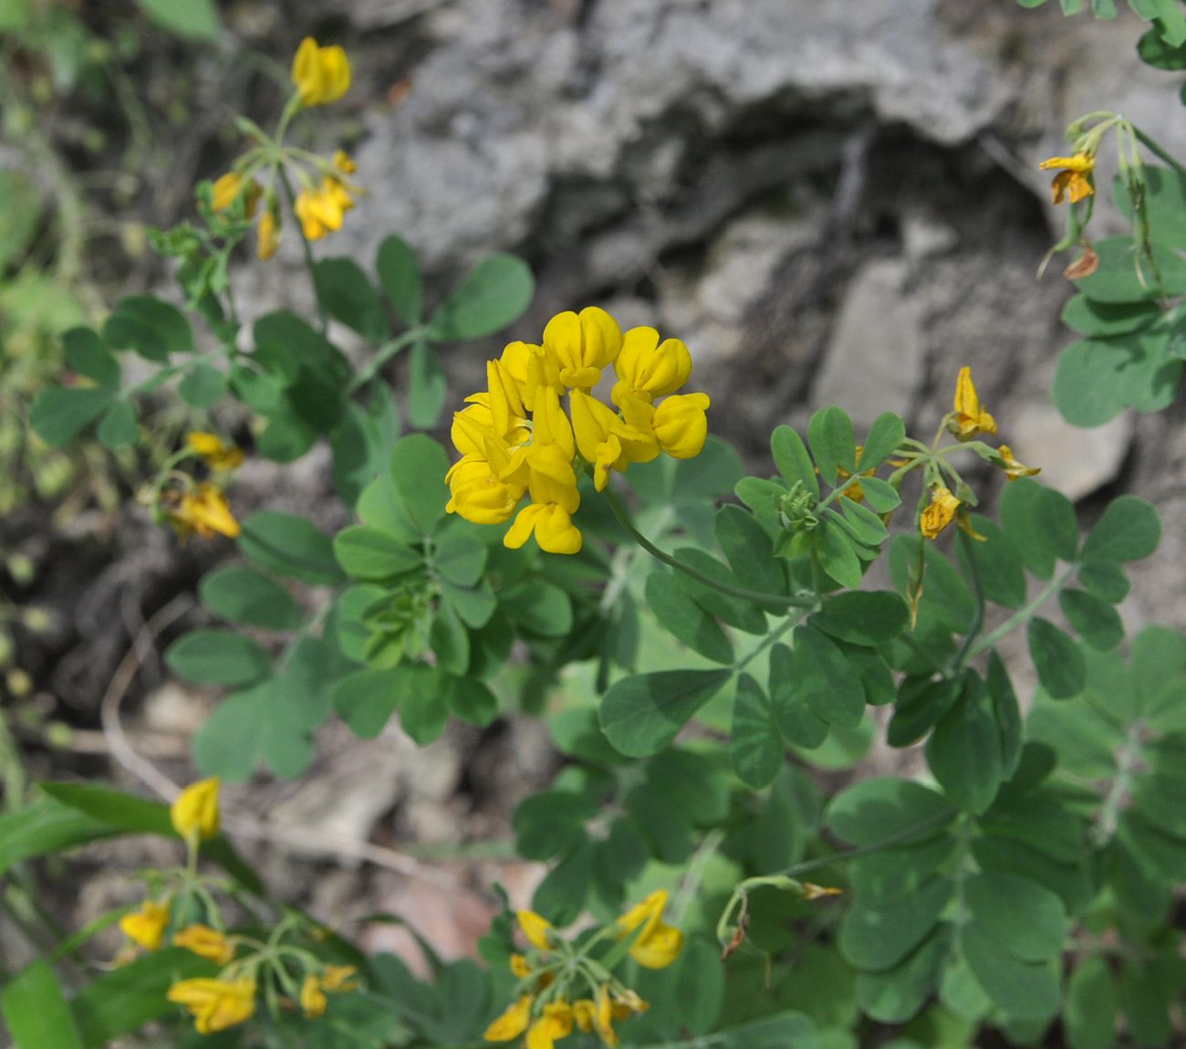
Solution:
[[[892,968],[926,939],[954,895],[950,878],[935,877],[890,905],[857,898],[840,926],[840,953],[857,968]]]

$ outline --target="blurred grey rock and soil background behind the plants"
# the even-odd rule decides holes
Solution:
[[[483,253],[522,255],[538,291],[511,337],[598,304],[686,339],[712,430],[754,471],[774,425],[828,403],[859,430],[894,411],[930,433],[970,364],[1002,437],[1086,519],[1129,489],[1158,506],[1166,534],[1133,566],[1123,612],[1186,627],[1181,408],[1063,422],[1048,389],[1070,259],[1035,275],[1061,235],[1037,165],[1064,152],[1072,119],[1123,112],[1186,153],[1180,77],[1137,61],[1143,28],[1015,0],[0,0],[4,805],[46,777],[141,789],[113,759],[104,707],[138,755],[192,776],[189,738],[216,697],[170,680],[157,653],[200,622],[196,583],[235,552],[179,548],[132,498],[184,417],[162,405],[147,449],[53,451],[27,407],[60,375],[63,330],[122,294],[174,295],[146,230],[192,216],[196,182],[241,148],[234,114],[274,122],[305,36],[345,46],[353,87],[300,133],[349,150],[368,190],[321,253],[370,268],[397,231],[438,288]],[[1105,152],[1099,184],[1112,173]],[[1122,228],[1105,197],[1096,236]],[[312,309],[294,237],[269,263],[244,258],[235,282],[247,322]],[[451,401],[498,344],[446,351]],[[248,440],[246,419],[219,422]],[[295,466],[249,459],[234,498],[243,515],[345,522],[324,447]],[[419,750],[394,725],[370,743],[331,725],[308,776],[261,778],[229,805],[269,815],[256,859],[281,898],[346,922],[414,914],[451,955],[491,913],[466,885],[538,878],[498,843],[557,765],[533,719],[454,725]],[[90,846],[51,871],[55,921],[132,899],[144,848]],[[12,967],[34,945],[12,920],[27,901],[8,903]]]

